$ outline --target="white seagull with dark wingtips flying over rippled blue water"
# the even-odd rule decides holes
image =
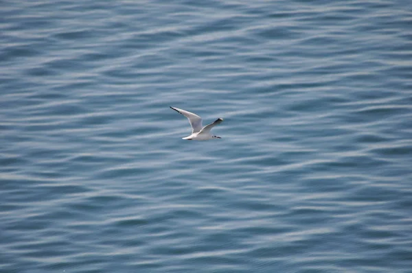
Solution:
[[[219,117],[213,123],[210,123],[205,127],[202,127],[202,118],[198,115],[172,106],[170,106],[170,108],[172,108],[176,112],[179,112],[181,115],[187,117],[187,119],[189,119],[190,126],[192,126],[192,134],[190,134],[190,136],[188,137],[182,137],[182,139],[187,139],[189,141],[207,141],[209,139],[221,139],[221,137],[214,136],[213,134],[211,134],[210,130],[215,125],[221,123],[223,121],[222,118]]]

